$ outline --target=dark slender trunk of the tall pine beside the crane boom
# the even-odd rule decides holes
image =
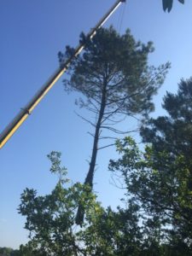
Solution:
[[[100,110],[99,110],[99,117],[96,122],[96,130],[95,130],[95,136],[94,136],[94,141],[93,141],[93,149],[92,149],[92,155],[91,155],[91,159],[90,159],[90,168],[89,168],[89,172],[87,173],[87,176],[84,180],[84,184],[87,184],[90,186],[90,191],[88,191],[88,193],[91,192],[91,190],[93,188],[93,177],[94,177],[94,172],[95,172],[95,167],[96,167],[96,155],[98,152],[99,134],[100,134],[100,129],[101,129],[101,125],[102,125],[103,114],[104,114],[105,107],[106,107],[107,84],[108,84],[107,79],[104,79],[103,85],[102,85],[102,101],[101,101],[101,106],[100,106]],[[84,206],[79,204],[78,212],[76,215],[76,224],[82,225],[83,222],[84,222]]]

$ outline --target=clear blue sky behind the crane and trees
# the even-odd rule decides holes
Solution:
[[[192,1],[174,0],[170,14],[161,0],[127,0],[121,32],[130,28],[133,36],[154,42],[149,62],[172,62],[172,69],[158,96],[155,115],[166,90],[176,91],[181,78],[192,75]],[[76,46],[79,33],[90,27],[112,6],[114,0],[1,0],[0,3],[0,131],[58,67],[57,53],[66,44]],[[119,29],[121,7],[106,26]],[[67,95],[61,80],[49,91],[32,115],[0,151],[0,247],[19,247],[26,242],[25,218],[17,213],[20,194],[26,187],[49,193],[55,177],[49,173],[46,155],[62,152],[63,164],[73,181],[84,182],[90,159],[89,125],[74,113],[78,108]],[[81,110],[79,110],[81,113]],[[88,115],[88,113],[84,114]],[[128,123],[129,128],[131,122]],[[108,148],[98,155],[95,191],[104,206],[115,207],[122,191],[110,184],[108,160],[115,157]]]

